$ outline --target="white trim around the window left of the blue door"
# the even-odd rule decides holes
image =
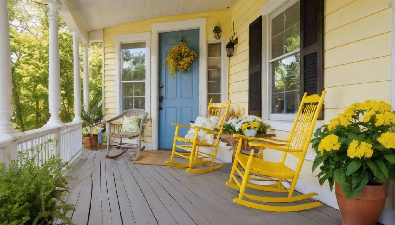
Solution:
[[[151,112],[151,32],[128,33],[114,37],[115,43],[115,96],[117,115],[122,113],[121,45],[122,43],[145,42],[145,111]]]

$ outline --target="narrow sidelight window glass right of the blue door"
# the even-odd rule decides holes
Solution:
[[[221,102],[221,43],[209,44],[208,53],[207,101]]]

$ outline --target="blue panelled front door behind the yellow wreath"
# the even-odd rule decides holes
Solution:
[[[190,69],[177,72],[171,79],[166,60],[169,50],[180,43],[180,32],[159,33],[159,148],[173,147],[175,126],[189,125],[199,115],[199,29],[181,31],[182,40],[198,55]],[[179,136],[185,136],[187,128],[180,127]]]

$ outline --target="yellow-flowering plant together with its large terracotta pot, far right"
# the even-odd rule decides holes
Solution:
[[[335,194],[343,224],[371,225],[384,208],[387,181],[395,178],[395,114],[383,101],[350,105],[314,133],[320,184],[327,180]]]

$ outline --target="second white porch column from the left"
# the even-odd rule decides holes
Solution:
[[[58,15],[60,5],[56,0],[47,0],[49,6],[49,113],[47,125],[62,125],[60,121],[60,62],[58,39]]]

